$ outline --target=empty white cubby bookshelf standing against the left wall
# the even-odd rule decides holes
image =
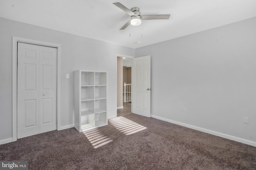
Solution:
[[[106,72],[74,71],[74,111],[79,132],[108,125]]]

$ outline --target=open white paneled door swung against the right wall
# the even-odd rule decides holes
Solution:
[[[133,59],[132,113],[150,117],[151,104],[151,57]]]

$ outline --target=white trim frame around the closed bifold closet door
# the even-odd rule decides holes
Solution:
[[[57,43],[42,42],[27,38],[12,37],[12,141],[17,140],[17,64],[18,42],[43,45],[57,48],[57,130],[60,128],[60,51],[61,45]]]

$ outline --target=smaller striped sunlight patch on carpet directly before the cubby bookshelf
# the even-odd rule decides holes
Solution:
[[[98,128],[87,130],[83,132],[84,135],[88,138],[88,140],[91,142],[92,146],[96,149],[100,146],[104,146],[113,140],[109,138],[108,136],[102,134]]]

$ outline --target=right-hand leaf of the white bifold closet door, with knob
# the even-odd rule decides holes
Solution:
[[[57,129],[57,48],[40,46],[39,133]]]

